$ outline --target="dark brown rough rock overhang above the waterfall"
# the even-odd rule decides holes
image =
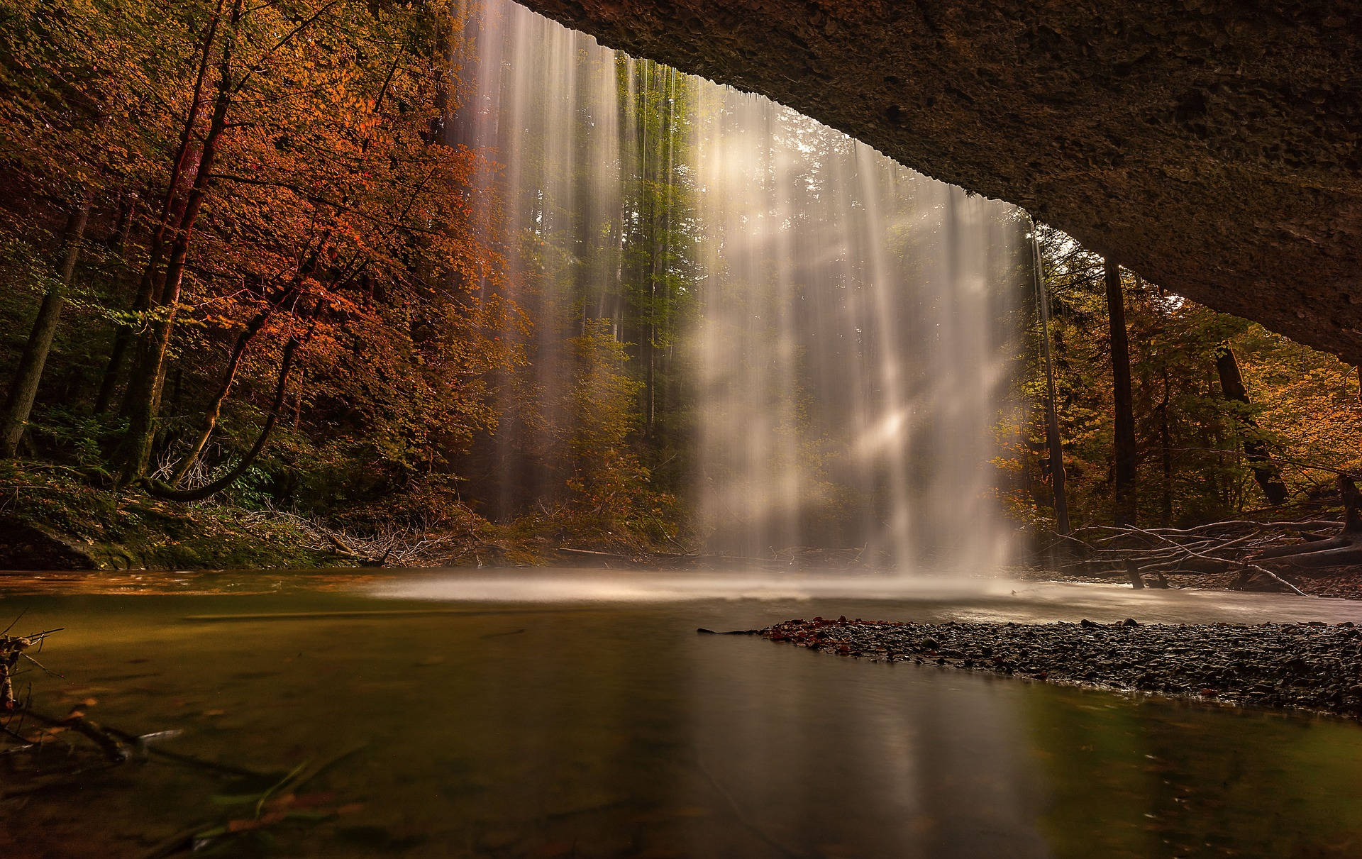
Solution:
[[[1362,5],[522,0],[1362,362]]]

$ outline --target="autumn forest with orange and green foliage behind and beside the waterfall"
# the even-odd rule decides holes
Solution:
[[[695,165],[723,108],[658,64],[598,68],[621,191],[564,227],[546,184],[588,199],[602,158],[583,143],[571,169],[507,167],[507,132],[479,132],[494,49],[479,20],[439,0],[4,0],[0,527],[29,554],[0,564],[533,564],[706,545],[689,332],[722,240]],[[606,128],[592,98],[563,120],[582,140]],[[791,211],[812,211],[850,181],[834,169],[850,144],[786,128],[802,135]],[[1053,547],[1058,524],[1051,396],[1069,527],[1336,506],[1333,475],[1362,467],[1355,368],[1024,214],[989,218],[1011,244],[971,312],[1004,332],[1005,391],[990,485],[971,491],[1016,551]],[[921,270],[932,241],[885,259]],[[903,319],[938,299],[913,301]],[[775,408],[798,425],[799,491],[821,493],[801,534],[861,549],[838,523],[893,482],[839,478],[846,423],[827,414],[850,406],[836,380],[810,381],[812,351],[791,354]]]

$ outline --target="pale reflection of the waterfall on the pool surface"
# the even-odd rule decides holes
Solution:
[[[789,659],[759,648],[695,664],[697,766],[756,841],[775,855],[1047,855],[1019,686],[896,666],[849,675],[814,655],[791,674]]]

